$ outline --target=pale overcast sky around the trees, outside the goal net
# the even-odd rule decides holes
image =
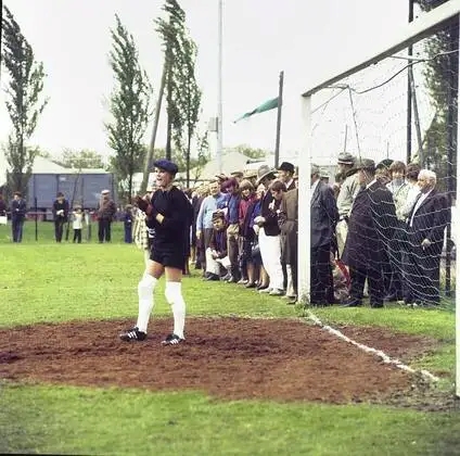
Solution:
[[[111,150],[104,122],[114,88],[108,65],[110,28],[118,14],[133,35],[140,63],[156,97],[162,74],[154,18],[161,0],[9,0],[5,2],[42,61],[49,104],[30,140],[53,155],[63,149]],[[404,0],[223,0],[223,147],[274,149],[276,111],[234,124],[244,112],[277,97],[284,71],[281,156],[301,148],[301,93],[321,79],[382,50],[407,24]],[[180,0],[199,47],[197,79],[203,90],[200,130],[217,114],[218,0]],[[2,75],[4,87],[4,76]],[[154,100],[153,100],[154,101]],[[165,115],[156,145],[165,144]],[[0,142],[11,124],[0,93]],[[145,142],[150,139],[149,126]]]

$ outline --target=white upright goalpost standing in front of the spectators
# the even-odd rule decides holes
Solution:
[[[310,187],[311,100],[302,97],[302,144],[298,160],[298,302],[309,303],[310,293]]]

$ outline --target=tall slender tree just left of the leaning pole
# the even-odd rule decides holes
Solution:
[[[144,154],[143,137],[151,116],[149,100],[152,86],[139,64],[135,39],[115,15],[116,27],[111,29],[113,41],[110,64],[114,72],[116,87],[112,92],[111,114],[113,122],[105,125],[108,145],[115,151],[111,167],[118,182],[120,197],[132,195],[132,175]]]

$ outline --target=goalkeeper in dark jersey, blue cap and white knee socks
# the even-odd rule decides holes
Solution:
[[[154,300],[153,292],[163,276],[166,277],[165,296],[174,316],[174,329],[162,342],[163,345],[177,345],[184,341],[186,303],[182,296],[182,270],[190,252],[190,226],[193,208],[187,195],[173,185],[178,172],[175,163],[157,160],[154,163],[158,190],[148,202],[136,198],[139,208],[148,216],[148,226],[153,226],[155,236],[149,265],[138,284],[139,314],[132,329],[119,334],[123,341],[143,341]]]

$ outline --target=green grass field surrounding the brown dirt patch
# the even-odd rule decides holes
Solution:
[[[25,228],[22,244],[0,227],[0,326],[136,317],[142,253],[122,243],[52,242],[52,225]],[[206,295],[184,279],[192,316],[302,317],[302,308],[215,283]],[[231,299],[228,290],[231,287]],[[163,288],[163,282],[161,287]],[[162,293],[162,291],[159,291]],[[156,315],[169,315],[158,300]],[[388,307],[315,309],[324,322],[376,325],[439,340],[439,350],[412,367],[440,373],[437,393],[453,395],[455,315]],[[107,334],[112,337],[112,334]],[[0,347],[0,352],[8,350]],[[148,354],[145,354],[148,356]],[[11,383],[0,389],[0,453],[178,455],[456,455],[458,411],[419,411],[369,404],[225,402],[201,393]]]

